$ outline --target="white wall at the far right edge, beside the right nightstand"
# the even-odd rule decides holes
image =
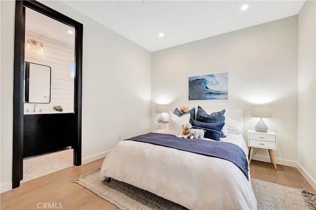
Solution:
[[[316,189],[316,3],[298,15],[298,169]]]

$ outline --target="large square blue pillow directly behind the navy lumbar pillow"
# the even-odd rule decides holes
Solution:
[[[208,115],[202,107],[197,106],[197,121],[205,122],[205,123],[225,122],[225,116],[224,116],[225,111],[226,110],[223,109],[222,111],[213,112],[210,115]],[[226,137],[223,134],[223,132],[221,133],[221,137],[222,138]]]

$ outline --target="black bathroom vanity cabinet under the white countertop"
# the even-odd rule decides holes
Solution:
[[[72,146],[75,114],[24,115],[23,157]]]

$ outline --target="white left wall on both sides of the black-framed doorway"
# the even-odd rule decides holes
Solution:
[[[60,1],[43,4],[83,24],[82,162],[150,131],[151,53]],[[12,185],[15,1],[1,1],[1,192]],[[5,53],[3,53],[5,52]]]

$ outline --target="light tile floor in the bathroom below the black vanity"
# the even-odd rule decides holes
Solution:
[[[23,158],[21,183],[73,166],[74,150],[63,150]]]

